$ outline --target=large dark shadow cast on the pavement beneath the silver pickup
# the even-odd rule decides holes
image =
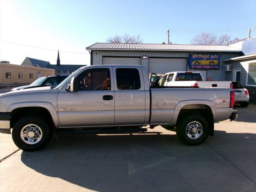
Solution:
[[[237,170],[225,158],[232,159],[239,154],[242,160],[248,161],[248,166],[255,165],[255,149],[244,150],[246,146],[255,146],[255,141],[256,134],[224,131],[216,131],[214,137],[200,146],[182,144],[174,132],[60,135],[58,142],[52,140],[42,151],[22,152],[21,160],[40,174],[102,192],[213,188],[245,191],[253,189],[255,183],[244,176],[237,177]],[[223,151],[226,148],[227,154]],[[250,169],[256,178],[255,166]],[[225,185],[220,186],[223,181]],[[60,191],[65,191],[62,187]]]

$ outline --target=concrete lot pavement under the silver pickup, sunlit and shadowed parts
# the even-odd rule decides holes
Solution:
[[[38,152],[18,150],[0,133],[0,158],[7,157],[0,191],[255,192],[256,105],[234,110],[238,119],[216,123],[200,146],[161,126],[145,134],[60,135]]]

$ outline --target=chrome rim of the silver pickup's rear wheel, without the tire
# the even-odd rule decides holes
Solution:
[[[194,140],[198,139],[203,134],[203,126],[197,121],[192,121],[186,126],[186,135]]]

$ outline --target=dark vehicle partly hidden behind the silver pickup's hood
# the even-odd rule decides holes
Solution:
[[[21,89],[35,88],[35,87],[44,87],[44,86],[54,86],[60,84],[68,75],[57,75],[57,76],[46,76],[40,77],[30,85],[20,86],[13,88],[11,91],[17,91]]]

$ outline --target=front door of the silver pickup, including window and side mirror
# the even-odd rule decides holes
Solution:
[[[78,92],[58,94],[62,127],[108,126],[114,124],[114,80],[112,67],[93,66],[78,74]]]

